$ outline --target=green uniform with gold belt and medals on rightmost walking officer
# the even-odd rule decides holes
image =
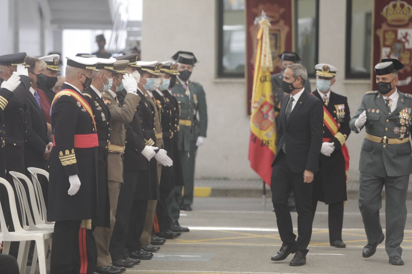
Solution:
[[[401,256],[403,230],[406,221],[406,193],[412,173],[410,144],[412,95],[398,89],[396,108],[386,103],[384,95],[369,91],[363,95],[361,105],[349,126],[359,133],[365,127],[365,138],[359,159],[359,209],[362,214],[368,243],[382,239],[379,210],[381,192],[385,186],[386,199],[386,252],[389,257]],[[366,123],[360,128],[355,122],[366,111]],[[359,131],[358,131],[359,130]]]

